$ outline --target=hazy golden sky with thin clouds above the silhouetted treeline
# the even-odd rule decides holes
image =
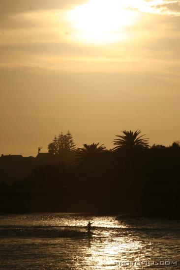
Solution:
[[[180,0],[0,0],[0,154],[180,140]]]

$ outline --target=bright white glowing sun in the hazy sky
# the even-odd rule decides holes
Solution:
[[[133,22],[133,12],[121,0],[89,0],[69,10],[74,37],[89,43],[112,43],[123,38],[122,27]]]

